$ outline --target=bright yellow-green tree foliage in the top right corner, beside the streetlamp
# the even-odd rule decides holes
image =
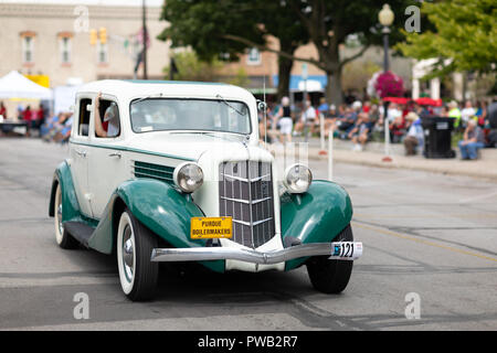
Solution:
[[[408,34],[398,49],[417,60],[438,58],[429,77],[452,72],[494,73],[497,63],[497,2],[451,0],[423,2],[434,30]]]

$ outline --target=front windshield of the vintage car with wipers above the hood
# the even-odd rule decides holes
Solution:
[[[140,98],[130,105],[135,132],[200,130],[251,133],[248,107],[241,101]]]

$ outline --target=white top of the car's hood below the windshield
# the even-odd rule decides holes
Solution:
[[[225,154],[225,160],[267,158],[265,149],[258,145],[246,143],[245,136],[232,133],[195,132],[147,132],[134,137],[129,147],[144,151],[170,154],[181,159],[198,161],[204,153]]]

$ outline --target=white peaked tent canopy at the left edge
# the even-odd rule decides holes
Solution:
[[[52,89],[11,71],[0,78],[0,98],[52,99]]]

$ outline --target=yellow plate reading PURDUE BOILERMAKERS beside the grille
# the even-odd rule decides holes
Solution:
[[[190,237],[192,239],[231,238],[232,217],[192,217]]]

